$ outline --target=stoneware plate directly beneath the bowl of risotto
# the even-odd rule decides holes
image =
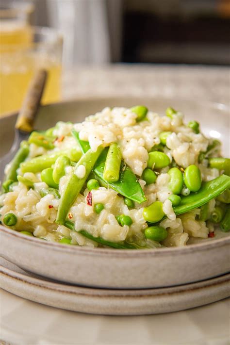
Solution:
[[[143,290],[91,289],[34,277],[1,260],[1,287],[17,296],[74,312],[144,315],[176,312],[230,296],[230,274],[198,283]]]

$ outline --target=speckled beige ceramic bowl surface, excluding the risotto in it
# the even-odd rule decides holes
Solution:
[[[81,99],[41,107],[36,129],[57,121],[82,121],[105,106],[145,104],[163,113],[167,106],[180,109],[186,121],[198,119],[206,135],[220,138],[229,155],[229,110],[223,104],[196,103],[183,99]],[[16,114],[0,118],[0,156],[11,147]],[[25,270],[75,283],[103,288],[154,288],[209,279],[230,271],[230,236],[196,240],[185,247],[157,250],[115,250],[65,246],[22,235],[0,226],[0,255]]]

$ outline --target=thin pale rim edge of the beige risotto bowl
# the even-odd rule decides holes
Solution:
[[[42,108],[49,108],[50,106],[53,105],[65,105],[68,103],[74,103],[74,102],[78,102],[78,101],[99,101],[99,100],[105,100],[105,99],[124,99],[124,101],[126,99],[150,99],[149,96],[146,97],[136,97],[136,96],[132,96],[132,95],[128,95],[128,96],[120,96],[120,95],[115,95],[115,96],[106,96],[106,97],[102,97],[102,96],[81,96],[78,98],[72,98],[72,99],[64,99],[58,102],[54,102],[54,103],[49,103],[49,104],[44,104],[41,105]],[[169,100],[172,99],[173,97],[167,97],[167,96],[160,96],[160,97],[152,97],[152,99],[157,98],[157,99],[165,99],[165,100]],[[179,100],[181,101],[189,101],[189,102],[195,102],[196,104],[200,104],[203,106],[208,106],[208,107],[212,107],[218,110],[222,110],[222,111],[230,111],[230,106],[224,103],[220,103],[220,102],[213,102],[213,101],[206,101],[206,100],[193,100],[193,99],[187,99],[187,98],[183,98],[183,97],[178,97]],[[18,112],[14,111],[14,112],[9,112],[9,113],[5,113],[3,116],[0,117],[0,121],[2,119],[10,119],[11,117],[17,115]],[[203,250],[209,250],[209,249],[213,249],[214,247],[222,247],[222,246],[226,246],[226,245],[230,245],[230,236],[224,237],[224,238],[220,238],[217,240],[212,240],[212,242],[206,241],[203,243],[197,243],[197,244],[191,244],[191,245],[187,245],[187,246],[182,246],[182,247],[165,247],[165,248],[160,248],[160,250],[156,250],[156,249],[132,249],[132,250],[127,250],[127,249],[119,249],[119,250],[115,250],[114,248],[90,248],[90,247],[82,247],[82,246],[66,246],[63,245],[61,243],[57,243],[57,242],[49,242],[49,241],[44,241],[41,240],[39,238],[36,237],[32,237],[32,236],[26,236],[24,234],[21,234],[19,231],[17,230],[13,230],[9,229],[3,225],[0,224],[0,232],[3,231],[5,232],[8,236],[11,237],[16,237],[17,239],[21,240],[23,239],[24,241],[28,241],[29,243],[35,245],[35,246],[41,246],[43,248],[51,248],[55,251],[61,251],[61,252],[67,252],[67,253],[71,253],[71,254],[79,254],[79,255],[94,255],[94,256],[98,256],[98,255],[112,255],[112,256],[128,256],[129,257],[146,257],[146,256],[153,256],[153,257],[158,257],[158,256],[165,256],[165,255],[185,255],[185,254],[190,254],[192,252],[195,251],[203,251]]]

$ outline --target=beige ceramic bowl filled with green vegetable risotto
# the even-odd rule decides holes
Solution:
[[[52,279],[110,288],[229,271],[227,107],[82,99],[39,112],[5,167],[3,257]],[[0,119],[1,154],[15,119]]]

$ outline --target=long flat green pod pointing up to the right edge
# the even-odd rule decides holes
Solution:
[[[221,175],[212,181],[204,182],[198,192],[190,193],[187,197],[181,196],[181,203],[174,207],[174,212],[175,214],[182,214],[194,210],[228,188],[230,188],[230,177],[227,175]]]

